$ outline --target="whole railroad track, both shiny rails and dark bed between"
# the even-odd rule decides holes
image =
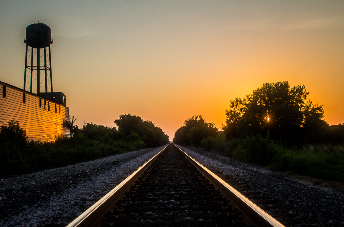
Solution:
[[[67,227],[283,226],[174,144]]]

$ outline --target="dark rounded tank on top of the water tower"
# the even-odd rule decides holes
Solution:
[[[43,23],[30,24],[26,27],[26,38],[24,43],[33,48],[48,47],[53,43],[51,39],[51,29]]]

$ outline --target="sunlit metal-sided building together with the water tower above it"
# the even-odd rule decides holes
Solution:
[[[0,81],[0,125],[15,120],[29,140],[53,141],[69,136],[71,122],[66,96],[53,92],[51,29],[44,23],[26,27],[23,89]]]

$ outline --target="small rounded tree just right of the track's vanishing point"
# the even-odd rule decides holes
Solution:
[[[183,126],[177,129],[173,143],[198,147],[202,139],[216,135],[217,128],[214,123],[206,122],[202,115],[195,115],[185,120]]]

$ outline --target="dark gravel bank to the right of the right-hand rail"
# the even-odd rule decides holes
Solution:
[[[274,196],[290,212],[305,219],[295,226],[344,226],[344,193],[333,188],[312,185],[263,167],[194,148],[180,147],[202,165],[222,171],[239,182],[246,181],[263,195]]]

